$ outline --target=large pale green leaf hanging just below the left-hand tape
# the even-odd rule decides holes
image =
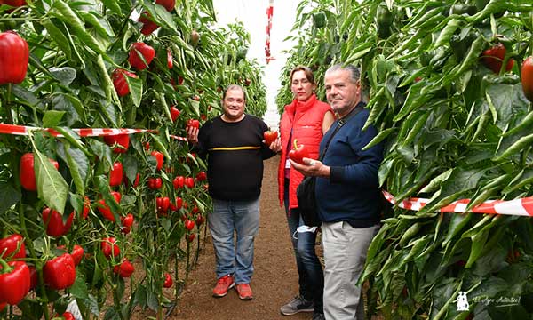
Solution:
[[[67,202],[68,184],[50,162],[50,159],[39,152],[35,146],[34,155],[37,195],[52,210],[63,214]]]

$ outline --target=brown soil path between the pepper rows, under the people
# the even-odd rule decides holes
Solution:
[[[311,313],[282,316],[280,307],[298,292],[298,272],[290,244],[285,212],[277,199],[277,164],[279,156],[265,161],[260,199],[261,220],[255,241],[254,275],[251,288],[254,299],[239,300],[235,290],[215,299],[211,290],[216,282],[215,256],[211,236],[191,271],[181,294],[178,308],[170,319],[311,319]],[[318,248],[317,248],[318,249]]]

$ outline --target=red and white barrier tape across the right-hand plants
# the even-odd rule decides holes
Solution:
[[[396,204],[394,196],[390,193],[383,191],[383,194],[386,197],[386,200],[391,204]],[[412,197],[405,200],[402,200],[398,204],[398,207],[407,210],[418,211],[422,209],[429,199]],[[439,212],[465,212],[466,206],[470,203],[470,199],[460,199],[454,201],[451,204],[448,204],[441,209]],[[485,201],[482,204],[474,206],[468,212],[474,213],[497,213],[497,214],[506,214],[506,215],[519,215],[530,217],[533,216],[533,196],[524,197],[521,199],[513,200],[489,200]]]

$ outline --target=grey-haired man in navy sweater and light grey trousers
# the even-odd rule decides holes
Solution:
[[[316,176],[315,194],[322,220],[324,250],[324,316],[363,319],[362,290],[357,286],[366,254],[379,228],[378,167],[383,145],[362,150],[377,135],[361,100],[359,69],[335,65],[324,76],[326,98],[338,121],[322,138],[322,162],[291,161],[306,176]],[[332,137],[332,139],[330,139]],[[328,141],[330,141],[329,145]]]

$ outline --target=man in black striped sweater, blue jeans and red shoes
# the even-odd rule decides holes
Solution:
[[[218,278],[213,296],[224,297],[235,286],[239,298],[251,300],[263,160],[276,153],[262,142],[267,124],[257,116],[245,114],[245,105],[243,87],[229,85],[222,96],[224,113],[203,124],[200,130],[188,127],[187,140],[195,145],[199,156],[207,156],[209,194],[213,200],[208,225]]]

